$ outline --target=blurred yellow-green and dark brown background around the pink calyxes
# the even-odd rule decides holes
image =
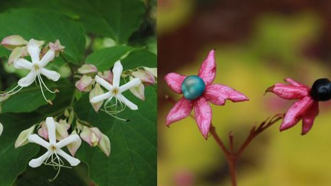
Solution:
[[[178,100],[163,77],[169,72],[197,74],[216,48],[217,79],[250,101],[212,105],[213,124],[228,144],[241,145],[266,117],[285,112],[292,101],[263,95],[291,77],[312,85],[331,78],[331,1],[158,1],[158,185],[230,185],[228,165],[213,138],[205,141],[192,118],[165,126]],[[301,136],[301,122],[279,132],[276,123],[241,156],[238,185],[331,185],[330,103],[320,104],[314,127]]]

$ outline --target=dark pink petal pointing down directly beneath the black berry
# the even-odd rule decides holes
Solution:
[[[312,106],[305,112],[302,118],[302,132],[301,135],[307,134],[312,128],[315,117],[319,114],[319,102],[314,101]]]

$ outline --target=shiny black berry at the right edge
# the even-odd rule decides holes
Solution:
[[[330,80],[323,78],[317,79],[312,84],[312,90],[310,90],[310,96],[314,101],[328,101],[331,99],[331,82]]]

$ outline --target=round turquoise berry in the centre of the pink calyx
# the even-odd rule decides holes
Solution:
[[[197,99],[204,91],[205,82],[199,76],[187,76],[181,83],[181,92],[183,92],[185,99]]]

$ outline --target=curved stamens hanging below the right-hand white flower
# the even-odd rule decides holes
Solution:
[[[121,100],[119,100],[117,98],[117,96],[114,96],[115,98],[115,103],[110,103],[110,101],[112,100],[112,97],[110,99],[108,99],[106,101],[106,103],[103,105],[103,109],[101,109],[103,112],[106,112],[107,114],[109,114],[110,116],[117,118],[121,121],[128,121],[126,119],[123,118],[119,118],[118,116],[116,116],[117,114],[123,112],[124,110],[126,110],[126,105],[123,104],[121,102]],[[110,104],[109,104],[110,103]]]

